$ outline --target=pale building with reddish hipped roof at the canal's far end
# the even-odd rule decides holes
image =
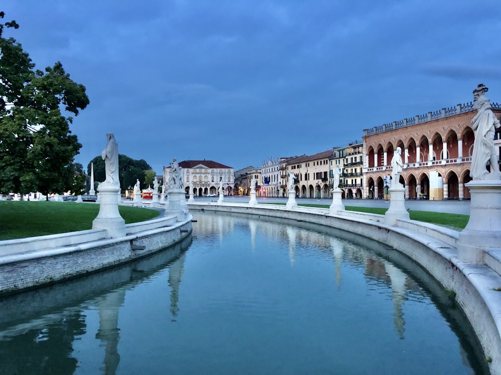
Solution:
[[[222,181],[224,195],[233,195],[233,168],[212,160],[184,160],[179,162],[184,173],[184,190],[188,192],[193,183],[195,196],[217,194],[219,181]],[[163,167],[163,180],[169,180],[170,166]]]

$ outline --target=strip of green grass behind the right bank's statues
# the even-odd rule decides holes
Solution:
[[[285,203],[272,203],[272,204],[285,204]],[[329,204],[305,203],[299,205],[306,207],[329,208]],[[384,215],[384,213],[388,208],[345,206],[345,209],[349,211],[377,213],[380,215]],[[413,211],[413,210],[409,210],[409,216],[412,220],[429,222],[430,224],[441,225],[455,230],[464,229],[469,219],[469,215],[461,215],[458,213],[443,213],[443,212]]]

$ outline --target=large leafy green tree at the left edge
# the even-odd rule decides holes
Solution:
[[[0,18],[5,13],[0,12]],[[71,133],[71,116],[89,104],[85,86],[61,62],[34,70],[29,54],[0,23],[0,191],[62,193],[75,183],[73,160],[82,145]]]

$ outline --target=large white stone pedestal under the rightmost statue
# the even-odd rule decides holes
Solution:
[[[501,248],[501,181],[472,180],[465,184],[470,190],[470,217],[459,233],[457,257],[481,263],[485,250]]]

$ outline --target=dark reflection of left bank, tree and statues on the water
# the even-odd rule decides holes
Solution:
[[[105,272],[0,299],[0,374],[73,374],[73,344],[87,333],[85,309],[97,309],[102,342],[101,373],[116,373],[120,362],[119,311],[126,291],[161,269],[169,269],[171,313],[175,316],[184,250],[191,238],[148,258]],[[76,307],[74,307],[76,306]]]

